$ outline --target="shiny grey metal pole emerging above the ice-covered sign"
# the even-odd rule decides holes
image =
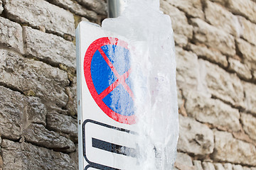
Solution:
[[[127,5],[127,0],[107,0],[107,14],[109,18],[121,15]]]

